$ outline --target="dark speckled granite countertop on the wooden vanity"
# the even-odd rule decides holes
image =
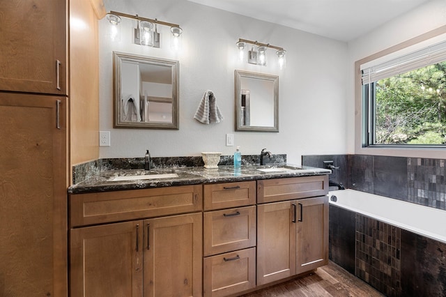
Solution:
[[[286,168],[282,172],[262,172],[259,169]],[[118,176],[144,176],[153,174],[176,174],[175,177],[135,179],[130,181],[112,181]],[[108,192],[118,190],[136,190],[145,188],[161,188],[177,185],[198,185],[203,183],[231,183],[236,181],[256,181],[270,178],[286,178],[297,176],[316,176],[331,174],[329,169],[321,169],[291,164],[275,165],[242,165],[241,169],[224,165],[217,169],[206,169],[204,167],[177,167],[160,168],[146,171],[144,169],[104,170],[85,181],[77,183],[68,188],[70,194],[81,194],[87,192]],[[178,177],[177,177],[178,176]]]

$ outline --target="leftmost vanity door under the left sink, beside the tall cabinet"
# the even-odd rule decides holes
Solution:
[[[71,229],[70,296],[142,296],[142,223]]]

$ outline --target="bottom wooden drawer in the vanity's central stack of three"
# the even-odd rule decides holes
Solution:
[[[204,296],[227,296],[256,287],[256,248],[204,258]]]

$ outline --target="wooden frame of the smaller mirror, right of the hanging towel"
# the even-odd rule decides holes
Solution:
[[[236,98],[236,131],[253,131],[253,132],[279,132],[279,77],[277,75],[268,75],[263,73],[252,73],[243,70],[235,71],[235,98]],[[273,84],[273,100],[274,105],[274,125],[260,126],[260,125],[243,125],[241,121],[242,116],[242,84],[243,78],[259,79],[265,82],[272,82]]]

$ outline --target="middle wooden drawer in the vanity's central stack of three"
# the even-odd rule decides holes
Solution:
[[[256,245],[256,206],[204,213],[204,255]]]

